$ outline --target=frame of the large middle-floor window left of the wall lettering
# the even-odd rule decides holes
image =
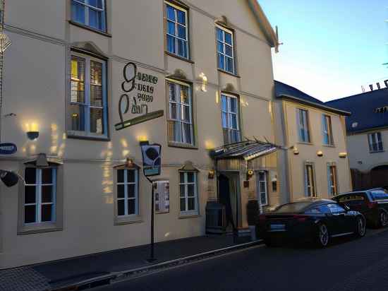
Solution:
[[[69,106],[71,105],[79,105],[79,106],[85,106],[85,131],[77,131],[73,130],[72,128],[72,121],[71,117],[68,117],[69,120],[69,130],[68,130],[68,136],[85,136],[85,137],[92,137],[92,138],[108,138],[108,102],[107,102],[107,61],[104,61],[103,59],[98,59],[95,57],[90,57],[87,54],[79,54],[77,52],[71,52],[71,61],[73,61],[72,57],[78,57],[81,59],[85,59],[85,80],[84,80],[84,86],[85,86],[85,103],[80,102],[71,102],[71,82],[72,82],[72,76],[70,77],[70,97],[69,97]],[[95,61],[97,63],[102,64],[102,107],[98,106],[92,106],[90,105],[90,61]],[[70,108],[70,107],[69,107]],[[102,118],[104,119],[102,122],[103,126],[103,132],[100,133],[92,133],[90,132],[90,109],[91,108],[102,108],[103,114]]]

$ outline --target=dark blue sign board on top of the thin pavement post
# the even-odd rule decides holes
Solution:
[[[160,174],[162,145],[158,143],[140,145],[143,156],[143,173],[145,177]]]

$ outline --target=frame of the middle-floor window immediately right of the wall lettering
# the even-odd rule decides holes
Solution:
[[[172,140],[169,140],[169,142],[181,143],[186,145],[194,145],[195,141],[194,141],[194,122],[193,122],[193,95],[191,93],[191,86],[186,83],[181,83],[178,81],[167,80],[166,82],[167,82],[167,90],[169,95],[169,121],[174,121],[173,132],[172,132],[172,135],[169,136],[169,138],[172,138]],[[175,101],[171,100],[170,84],[174,85],[175,87]],[[181,87],[186,87],[188,89],[188,104],[181,102]],[[172,118],[171,108],[173,104],[176,105],[176,112],[178,113],[178,116],[176,116],[176,119]],[[189,114],[190,114],[189,121],[184,121],[182,118],[183,109],[185,106],[189,107]],[[175,133],[176,122],[180,124],[181,141],[176,141],[176,133]],[[186,129],[185,129],[185,126],[183,126],[184,124],[188,124],[190,127],[190,140],[191,140],[190,143],[186,140]]]

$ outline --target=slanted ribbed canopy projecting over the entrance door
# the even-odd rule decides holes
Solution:
[[[262,155],[274,153],[279,148],[272,143],[263,143],[261,141],[241,141],[214,148],[210,155],[216,160],[224,159],[245,159],[252,160]]]

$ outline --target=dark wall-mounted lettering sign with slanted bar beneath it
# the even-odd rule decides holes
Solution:
[[[163,110],[148,112],[149,105],[154,101],[157,77],[138,72],[136,64],[130,62],[124,66],[123,78],[125,81],[121,83],[121,89],[124,93],[119,100],[120,122],[114,125],[116,131],[163,116]],[[130,94],[133,91],[137,93]],[[138,116],[124,120],[123,115],[127,113]]]

